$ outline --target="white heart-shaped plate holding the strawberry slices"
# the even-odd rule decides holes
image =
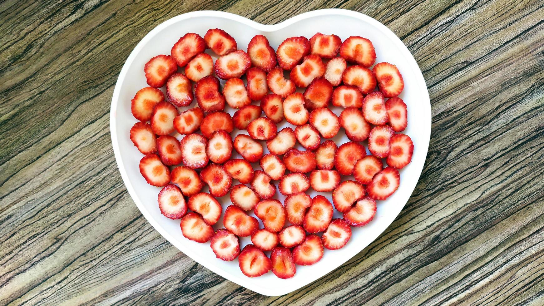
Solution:
[[[138,164],[143,155],[134,147],[128,136],[132,125],[137,122],[131,114],[131,99],[139,89],[147,86],[144,65],[155,55],[170,54],[171,47],[184,34],[193,32],[203,36],[211,28],[224,29],[236,39],[238,48],[244,51],[256,34],[267,36],[274,49],[291,36],[302,35],[309,39],[316,32],[321,32],[336,34],[344,40],[348,36],[360,35],[373,42],[377,55],[376,63],[387,61],[397,65],[404,78],[405,88],[400,95],[408,106],[408,128],[404,133],[410,135],[415,149],[411,164],[400,171],[400,188],[387,201],[378,201],[378,211],[374,220],[364,227],[353,228],[353,236],[344,248],[337,251],[325,249],[322,260],[312,266],[297,266],[295,276],[290,279],[279,279],[271,272],[257,278],[245,277],[240,272],[238,260],[231,262],[219,260],[215,258],[209,243],[197,243],[184,238],[180,230],[180,221],[170,220],[160,214],[157,205],[157,193],[160,188],[148,185],[139,172]],[[191,107],[194,105],[195,102]],[[187,108],[181,108],[185,109]],[[339,114],[338,110],[333,111]],[[226,111],[231,115],[234,113],[234,110],[228,107]],[[282,124],[278,130],[287,126],[285,121]],[[229,13],[195,11],[159,24],[134,48],[115,85],[110,129],[115,159],[123,182],[147,221],[172,245],[209,270],[255,292],[277,296],[299,289],[334,270],[368,246],[393,222],[410,198],[423,169],[431,131],[431,108],[425,80],[410,51],[391,30],[366,15],[349,10],[326,9],[301,14],[279,24],[264,25]],[[237,133],[239,131],[235,129],[232,135]],[[178,139],[182,138],[179,134],[176,136]],[[348,141],[343,129],[335,141],[338,145]],[[366,146],[366,142],[364,144]],[[266,146],[264,149],[267,151]],[[277,182],[275,183],[277,186]],[[314,191],[309,193],[312,197],[316,194]],[[279,192],[276,195],[279,195]],[[332,202],[330,193],[326,193],[325,196]],[[283,201],[283,197],[277,198]],[[223,209],[229,204],[228,196],[222,198]],[[335,211],[335,217],[339,216]],[[214,228],[221,227],[222,220],[219,220]],[[244,238],[241,242],[243,247],[250,240]]]

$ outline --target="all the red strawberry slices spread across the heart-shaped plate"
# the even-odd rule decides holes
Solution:
[[[256,35],[246,52],[221,29],[188,33],[170,55],[150,59],[149,87],[132,99],[139,122],[130,138],[145,154],[142,176],[162,187],[160,212],[181,219],[187,239],[209,241],[217,258],[238,258],[248,277],[271,270],[290,278],[325,248],[344,247],[352,227],[373,219],[376,201],[397,190],[413,152],[410,136],[399,133],[407,126],[403,77],[375,60],[360,36],[298,36],[274,50]],[[284,120],[292,127],[278,130]],[[337,146],[331,139],[341,128],[350,141]],[[311,198],[310,189],[320,195]],[[227,195],[232,204],[218,200]],[[252,244],[240,251],[243,237]]]

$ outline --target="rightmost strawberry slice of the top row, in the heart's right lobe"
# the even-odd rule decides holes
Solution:
[[[340,46],[340,56],[349,63],[370,67],[376,60],[372,42],[361,36],[350,36]]]

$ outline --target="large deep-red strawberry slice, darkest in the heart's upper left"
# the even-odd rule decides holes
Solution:
[[[225,97],[219,92],[219,80],[214,76],[203,77],[196,82],[195,98],[206,113],[225,109]]]

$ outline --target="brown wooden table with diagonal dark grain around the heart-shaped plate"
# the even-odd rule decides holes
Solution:
[[[544,304],[542,4],[0,2],[0,304]],[[376,241],[305,288],[260,296],[140,214],[115,164],[110,99],[132,48],[170,17],[277,23],[329,7],[376,18],[410,49],[431,97],[429,154]]]

